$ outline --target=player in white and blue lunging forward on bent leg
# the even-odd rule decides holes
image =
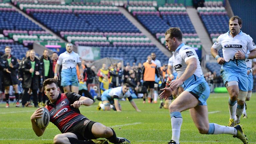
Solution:
[[[169,106],[172,139],[168,144],[179,144],[183,121],[181,112],[188,109],[199,133],[230,134],[246,144],[247,139],[241,125],[227,127],[209,123],[206,100],[210,95],[210,88],[204,79],[195,50],[182,42],[181,30],[177,27],[170,28],[165,33],[165,40],[168,49],[173,52],[173,68],[178,73],[178,79],[171,81],[169,88],[161,89],[163,92],[160,98],[167,99],[173,90],[184,84],[184,91]]]

